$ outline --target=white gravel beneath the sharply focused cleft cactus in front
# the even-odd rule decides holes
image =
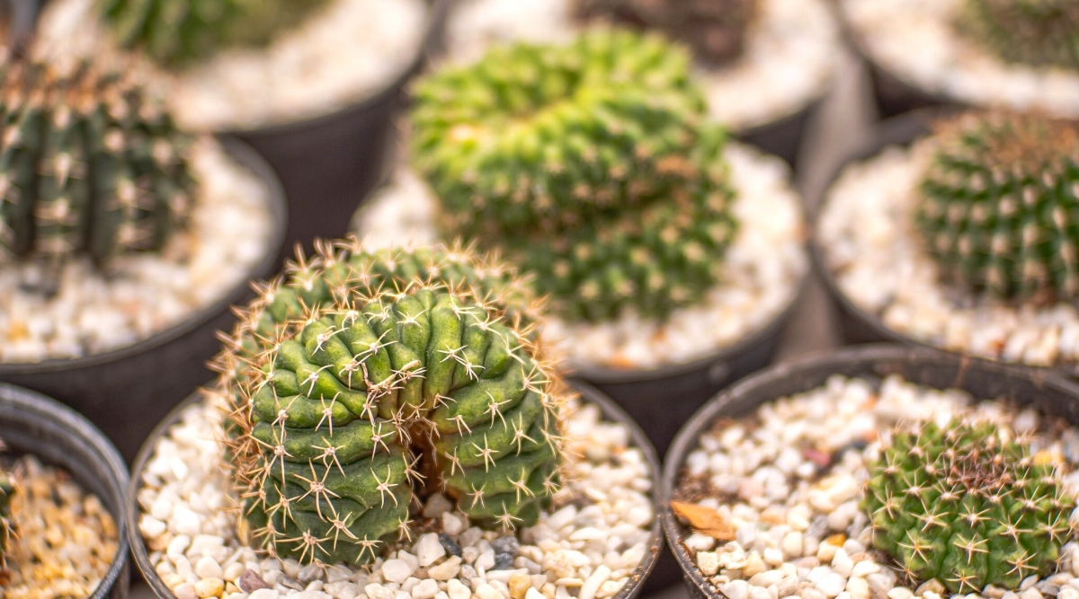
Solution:
[[[137,496],[138,527],[177,599],[606,599],[648,552],[652,473],[625,424],[602,420],[592,404],[566,407],[566,486],[516,538],[470,527],[435,494],[420,518],[435,532],[413,534],[372,566],[301,568],[259,555],[236,538],[238,496],[216,438],[221,416],[208,402],[188,407],[158,441]]]

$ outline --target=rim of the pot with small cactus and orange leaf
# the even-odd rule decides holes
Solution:
[[[664,460],[663,493],[660,499],[659,515],[663,520],[664,534],[667,539],[667,546],[670,548],[682,573],[688,584],[692,584],[698,593],[708,599],[725,599],[721,593],[708,590],[710,584],[705,580],[700,570],[697,569],[696,561],[689,556],[689,552],[681,543],[682,525],[679,524],[670,509],[674,487],[681,474],[682,465],[698,443],[701,432],[712,424],[719,414],[730,405],[735,400],[746,395],[761,386],[775,380],[790,378],[802,372],[815,372],[822,368],[838,368],[851,362],[898,362],[904,363],[929,363],[954,365],[960,373],[969,368],[979,371],[981,374],[989,374],[1005,378],[1020,378],[1029,380],[1039,388],[1054,388],[1063,394],[1071,395],[1079,401],[1079,384],[1067,377],[1051,371],[1034,371],[1019,368],[1009,364],[971,358],[957,353],[948,353],[939,349],[928,347],[911,347],[896,344],[872,344],[862,346],[849,346],[837,350],[824,350],[807,354],[803,358],[783,362],[769,366],[757,373],[750,375],[737,384],[728,387],[719,395],[710,400],[698,409],[686,421],[685,426],[674,436],[667,457]],[[917,381],[913,381],[917,382]],[[959,386],[960,381],[956,381]],[[804,389],[808,390],[808,389]],[[763,400],[756,405],[763,405],[768,401],[779,398]]]

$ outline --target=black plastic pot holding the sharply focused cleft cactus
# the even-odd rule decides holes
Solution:
[[[644,451],[644,458],[648,462],[648,468],[652,469],[652,499],[658,502],[659,500],[659,459],[656,457],[656,450],[648,442],[648,437],[644,434],[644,431],[637,426],[625,412],[622,410],[614,402],[605,398],[602,393],[596,389],[587,386],[577,384],[574,386],[575,389],[581,393],[582,399],[586,403],[592,403],[600,407],[600,412],[603,418],[616,422],[622,422],[629,427],[630,437],[632,438],[633,445],[640,447]],[[135,458],[135,464],[132,466],[132,477],[131,483],[127,486],[127,539],[131,544],[132,555],[135,557],[135,565],[138,567],[142,576],[146,579],[147,584],[153,589],[153,593],[161,599],[175,599],[173,591],[168,589],[165,582],[161,580],[158,572],[153,569],[153,563],[150,562],[150,554],[147,551],[146,543],[142,541],[141,533],[138,530],[138,518],[139,518],[139,505],[138,505],[138,492],[142,488],[142,471],[146,469],[147,462],[153,455],[153,450],[156,447],[158,440],[164,435],[168,428],[179,421],[180,416],[185,408],[193,403],[202,401],[202,395],[195,393],[187,399],[182,404],[176,406],[165,418],[153,429],[150,436],[147,437],[146,443],[138,451],[138,456]],[[658,505],[658,503],[657,503]],[[648,541],[648,551],[644,555],[643,561],[637,567],[630,581],[626,583],[626,586],[622,588],[612,599],[633,599],[641,594],[643,589],[646,588],[645,581],[648,580],[648,574],[652,573],[653,568],[656,566],[656,560],[659,557],[659,552],[664,547],[663,531],[660,530],[659,517],[655,518],[652,523],[652,534]]]

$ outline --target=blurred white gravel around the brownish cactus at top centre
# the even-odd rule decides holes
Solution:
[[[825,0],[760,0],[742,56],[697,66],[711,116],[742,131],[792,115],[822,97],[841,41]],[[447,59],[470,62],[493,43],[564,42],[579,31],[572,0],[462,0],[447,24]]]

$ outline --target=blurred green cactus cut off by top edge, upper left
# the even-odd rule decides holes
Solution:
[[[97,0],[119,42],[167,66],[260,46],[329,0]]]

